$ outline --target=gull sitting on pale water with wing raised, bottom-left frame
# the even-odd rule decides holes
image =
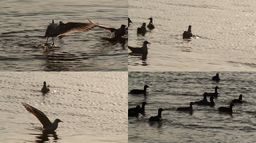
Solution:
[[[58,123],[63,122],[60,119],[55,119],[54,122],[51,123],[51,121],[46,117],[46,115],[39,109],[36,109],[26,103],[22,103],[22,105],[27,109],[28,112],[36,116],[39,122],[43,125],[43,130],[45,131],[54,131],[57,129]]]

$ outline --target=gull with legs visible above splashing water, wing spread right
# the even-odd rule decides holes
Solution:
[[[62,21],[60,21],[60,23],[57,24],[57,23],[54,23],[54,20],[52,20],[52,23],[50,23],[50,25],[48,25],[46,29],[45,36],[40,36],[40,37],[44,39],[47,38],[46,44],[48,42],[48,38],[52,37],[52,42],[53,42],[52,45],[54,45],[53,38],[56,36],[70,34],[73,32],[82,32],[82,31],[85,32],[94,28],[94,26],[96,26],[96,24],[94,23],[80,23],[80,22],[63,23]]]

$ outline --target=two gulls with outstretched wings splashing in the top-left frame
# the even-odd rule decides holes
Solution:
[[[102,29],[109,30],[111,33],[114,33],[115,34],[114,38],[116,38],[116,39],[124,36],[125,31],[128,30],[128,27],[125,28],[126,25],[124,25],[124,24],[122,24],[120,28],[116,29],[113,27],[99,25],[98,23],[91,22],[91,20],[89,20],[89,22],[90,23],[81,23],[81,22],[63,23],[62,21],[60,21],[59,23],[54,23],[54,20],[52,20],[52,23],[50,23],[47,26],[45,35],[39,36],[39,37],[43,38],[43,39],[47,38],[45,45],[47,45],[47,43],[48,43],[48,38],[52,37],[52,42],[53,42],[52,45],[54,45],[54,37],[56,37],[56,36],[66,35],[66,34],[70,34],[73,32],[89,31],[92,28],[94,28],[95,26],[98,26],[99,28],[102,28]]]

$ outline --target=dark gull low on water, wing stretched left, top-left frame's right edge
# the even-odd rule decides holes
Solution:
[[[89,18],[88,18],[89,20]],[[89,22],[91,22],[91,20],[89,20]],[[125,31],[128,29],[126,29],[126,25],[122,24],[120,28],[116,29],[116,28],[113,28],[113,27],[107,27],[107,26],[103,26],[103,25],[98,25],[97,23],[94,23],[94,22],[91,22],[93,24],[95,24],[96,26],[98,26],[99,28],[102,28],[102,29],[106,29],[106,30],[109,30],[111,33],[112,32],[115,32],[115,38],[120,38],[122,36],[125,35]]]

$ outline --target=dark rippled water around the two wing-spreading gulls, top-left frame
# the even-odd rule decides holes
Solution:
[[[8,0],[0,1],[0,69],[3,71],[127,71],[127,41],[109,42],[109,31],[87,32],[54,38],[45,35],[54,19],[93,22],[119,28],[127,23],[126,0]],[[127,37],[127,35],[125,35]],[[48,43],[52,44],[51,38]]]

